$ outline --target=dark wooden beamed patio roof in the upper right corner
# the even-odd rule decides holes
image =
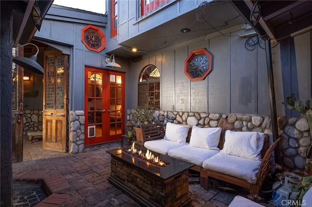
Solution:
[[[250,21],[251,9],[256,0],[231,0],[246,21]],[[245,2],[245,3],[244,3]],[[261,17],[254,26],[275,42],[312,29],[311,0],[258,0]]]

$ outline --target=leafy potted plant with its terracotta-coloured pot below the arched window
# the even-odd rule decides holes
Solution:
[[[132,121],[135,124],[135,132],[137,140],[143,142],[143,135],[140,126],[143,124],[157,123],[156,110],[152,108],[149,104],[144,106],[137,105],[134,110],[131,111]]]

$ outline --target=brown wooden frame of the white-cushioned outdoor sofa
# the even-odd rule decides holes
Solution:
[[[156,140],[156,139],[162,139],[165,136],[164,127],[159,123],[141,125],[141,129],[142,129],[142,135],[143,135],[143,142]],[[220,141],[218,145],[218,148],[220,150],[223,149],[223,144],[225,141],[225,138],[224,138],[225,131],[226,131],[225,129],[222,129],[221,131]],[[188,137],[186,138],[187,142],[190,141],[191,133],[192,133],[192,128],[190,128]],[[222,180],[222,181],[232,183],[234,185],[249,189],[250,194],[258,195],[261,189],[261,186],[269,173],[271,156],[272,156],[273,150],[278,144],[280,139],[281,138],[278,138],[276,141],[273,142],[273,144],[269,146],[269,138],[268,138],[268,135],[265,134],[264,144],[261,150],[262,162],[259,168],[259,172],[257,174],[257,182],[255,184],[251,184],[247,182],[246,180],[243,180],[234,176],[230,176],[230,175],[223,174],[223,173],[217,173],[208,169],[204,169],[202,166],[198,166],[198,165],[195,165],[191,169],[200,173],[200,187],[204,188],[204,190],[208,190],[209,177],[213,177],[215,179]]]

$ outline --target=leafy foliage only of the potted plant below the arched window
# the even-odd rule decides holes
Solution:
[[[136,126],[156,123],[158,121],[156,110],[149,104],[145,104],[144,106],[137,105],[135,110],[131,111],[131,115]]]

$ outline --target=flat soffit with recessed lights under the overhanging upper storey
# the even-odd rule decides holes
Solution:
[[[203,17],[207,17],[208,11],[209,17],[203,20],[203,17],[200,16],[199,20],[196,21],[196,13],[200,13],[200,9],[195,9],[121,43],[125,49],[130,50],[132,47],[135,47],[144,52],[129,52],[124,48],[119,48],[110,53],[135,61],[136,59],[140,59],[144,54],[155,52],[157,48],[178,45],[185,41],[215,33],[217,32],[216,30],[222,31],[245,22],[230,1],[210,2],[209,8],[206,6],[203,11]],[[195,24],[192,26],[194,22]],[[180,32],[181,29],[190,27],[190,32],[184,34]],[[167,44],[169,42],[171,43]]]

